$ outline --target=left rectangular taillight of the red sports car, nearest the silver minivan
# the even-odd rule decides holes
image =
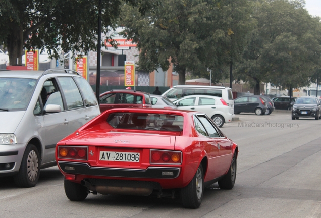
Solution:
[[[58,158],[87,160],[87,151],[85,146],[58,146]]]

